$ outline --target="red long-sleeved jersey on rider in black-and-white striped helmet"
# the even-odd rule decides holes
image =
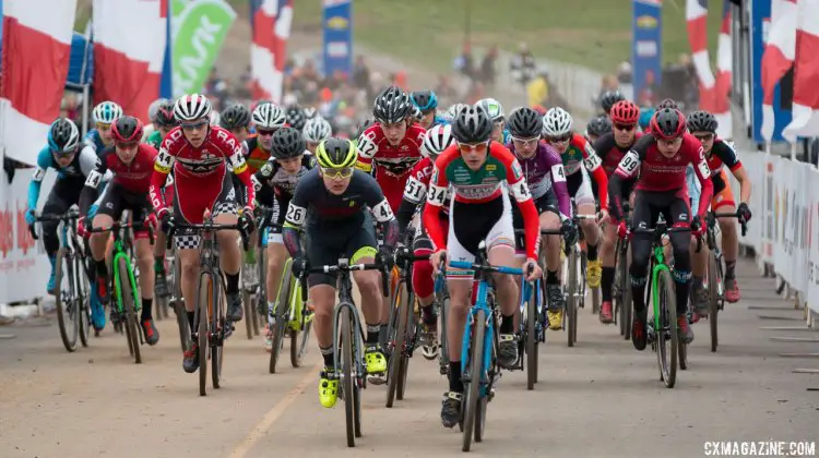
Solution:
[[[236,190],[227,174],[227,161],[245,184],[241,190],[246,193],[244,202],[252,208],[256,192],[250,182],[241,143],[236,136],[225,129],[212,125],[202,145],[193,147],[185,137],[182,129],[174,128],[163,140],[154,162],[151,203],[157,213],[168,210],[165,196],[159,191],[173,168],[176,192],[174,205],[175,209],[179,209],[175,215],[182,220],[202,222],[205,209],[214,209],[214,216],[217,213],[235,212]]]

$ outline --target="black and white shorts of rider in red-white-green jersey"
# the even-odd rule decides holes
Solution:
[[[451,261],[472,263],[478,252],[478,244],[486,241],[486,251],[497,246],[514,250],[514,227],[512,208],[506,188],[498,198],[482,204],[465,204],[452,200],[449,213],[449,234],[447,252]],[[473,270],[451,269],[449,278],[472,279]]]

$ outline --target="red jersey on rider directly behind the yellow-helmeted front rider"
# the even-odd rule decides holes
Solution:
[[[410,170],[420,159],[420,145],[426,130],[419,124],[406,128],[406,134],[393,146],[387,140],[381,124],[369,126],[358,138],[358,164],[356,167],[376,177],[393,213],[401,205],[404,185]]]

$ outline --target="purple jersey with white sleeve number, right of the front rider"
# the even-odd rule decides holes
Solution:
[[[512,142],[507,147],[514,153]],[[538,142],[537,150],[532,157],[523,158],[517,153],[514,156],[523,169],[532,197],[538,200],[554,191],[560,213],[567,217],[571,216],[571,201],[566,185],[563,160],[557,149],[551,145]]]

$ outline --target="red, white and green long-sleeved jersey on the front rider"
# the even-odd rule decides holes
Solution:
[[[427,228],[429,238],[437,248],[446,246],[441,224],[438,220],[438,212],[444,205],[448,195],[447,189],[452,185],[453,207],[455,203],[474,205],[490,204],[495,206],[494,201],[506,202],[506,191],[503,184],[507,184],[511,194],[514,196],[521,213],[524,217],[526,255],[527,257],[537,258],[538,245],[541,241],[541,228],[537,209],[532,201],[532,193],[529,191],[523,170],[514,155],[506,146],[497,142],[489,144],[486,161],[477,171],[471,170],[461,157],[461,150],[458,145],[450,145],[436,159],[435,169],[429,183],[427,193],[427,205],[424,208],[424,226]],[[475,205],[475,208],[482,205]],[[509,216],[509,229],[511,234],[501,234],[510,239],[514,245],[514,231],[511,229],[511,215],[506,212],[506,204],[501,205],[503,216]],[[511,208],[509,209],[511,212]],[[450,219],[454,221],[453,215]],[[450,232],[453,230],[452,221],[450,222]],[[482,234],[484,237],[486,234]]]

